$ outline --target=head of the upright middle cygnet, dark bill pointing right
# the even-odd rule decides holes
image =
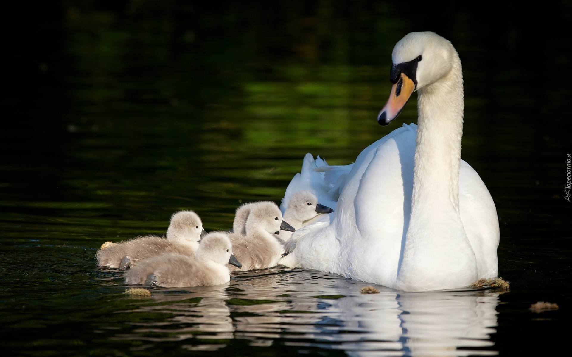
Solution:
[[[282,212],[271,201],[260,201],[253,204],[245,224],[247,234],[255,231],[279,233],[280,230],[295,231],[294,227],[282,219]]]

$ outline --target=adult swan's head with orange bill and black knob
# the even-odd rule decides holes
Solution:
[[[391,123],[414,91],[450,73],[455,55],[451,42],[430,31],[412,32],[400,39],[391,54],[393,86],[390,99],[378,114],[379,125]]]

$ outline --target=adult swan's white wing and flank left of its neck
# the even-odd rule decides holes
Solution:
[[[412,176],[408,171],[414,150],[414,125],[394,130],[364,149],[347,174],[331,223],[307,226],[284,263],[392,286],[407,206],[402,176]],[[407,173],[402,173],[402,165]]]

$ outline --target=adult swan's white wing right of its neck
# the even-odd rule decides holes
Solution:
[[[459,209],[475,252],[479,278],[494,278],[498,274],[496,249],[500,238],[495,203],[479,174],[463,160],[459,173]]]

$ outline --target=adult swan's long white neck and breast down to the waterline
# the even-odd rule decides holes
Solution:
[[[419,90],[411,218],[396,287],[442,290],[477,278],[475,254],[459,213],[463,77],[449,74]]]

